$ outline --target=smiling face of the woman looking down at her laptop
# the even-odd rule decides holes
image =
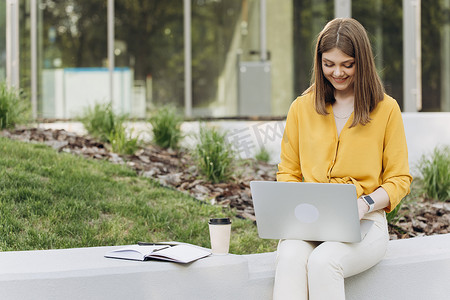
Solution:
[[[322,71],[336,92],[353,93],[355,58],[348,56],[338,48],[322,54]]]

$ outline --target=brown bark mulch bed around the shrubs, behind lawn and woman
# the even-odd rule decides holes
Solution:
[[[247,159],[239,163],[230,182],[212,184],[200,176],[187,151],[173,151],[148,145],[134,155],[118,155],[109,145],[88,136],[65,130],[25,128],[3,130],[0,135],[24,142],[45,143],[57,151],[92,159],[126,164],[144,177],[190,194],[213,205],[231,207],[237,216],[255,221],[249,182],[275,180],[276,165]],[[450,232],[450,201],[423,198],[404,203],[394,224],[389,224],[391,239],[445,234]]]

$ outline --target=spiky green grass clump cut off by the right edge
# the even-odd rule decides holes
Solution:
[[[425,196],[446,201],[450,199],[450,147],[437,147],[430,156],[419,161],[422,188]]]

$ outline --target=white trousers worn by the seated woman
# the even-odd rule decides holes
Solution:
[[[383,210],[363,219],[373,220],[374,224],[359,243],[281,240],[273,299],[345,299],[344,278],[377,264],[389,241]]]

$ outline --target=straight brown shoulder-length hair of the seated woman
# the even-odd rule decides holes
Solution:
[[[364,27],[355,19],[337,18],[325,25],[316,43],[311,86],[303,93],[313,92],[317,113],[327,115],[327,103],[334,103],[334,87],[322,70],[322,54],[337,48],[355,59],[354,127],[370,122],[370,112],[384,98],[384,87],[375,68],[372,48]]]

